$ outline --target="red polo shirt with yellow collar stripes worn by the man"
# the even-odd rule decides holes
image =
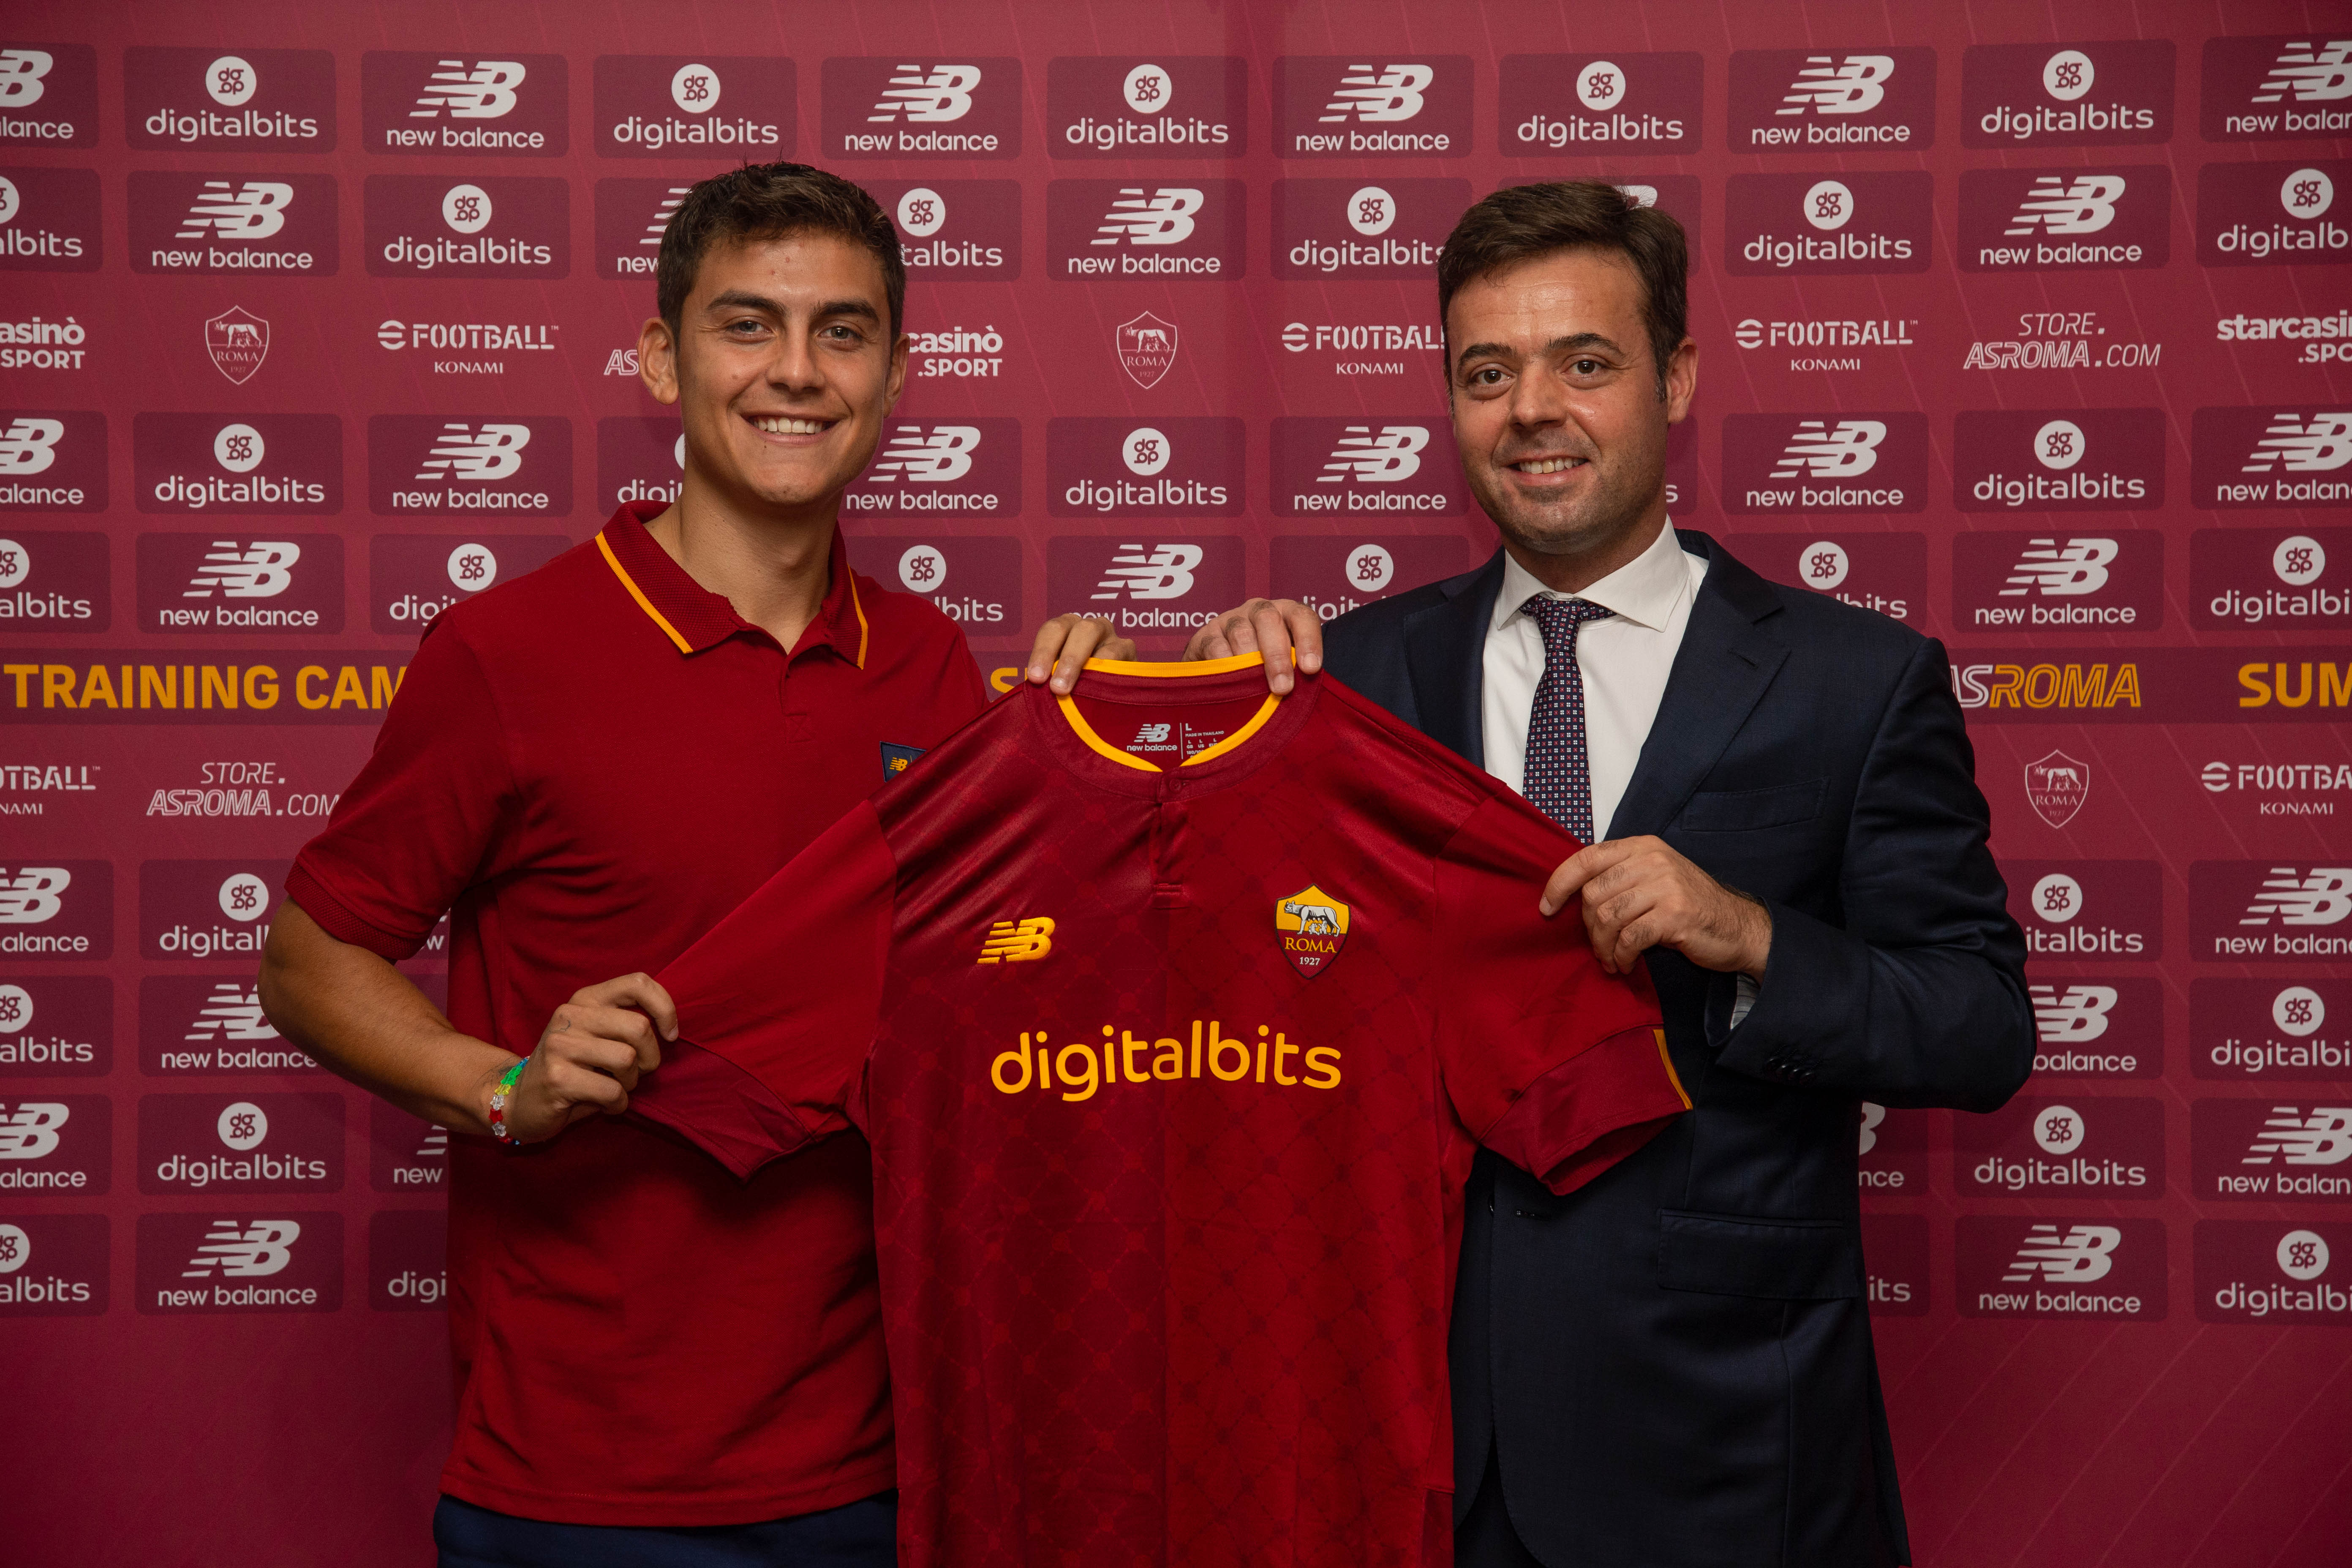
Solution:
[[[574,990],[675,959],[894,757],[985,705],[953,621],[849,571],[790,654],[644,531],[654,505],[426,635],[287,893],[524,1053]],[[826,976],[779,976],[823,985]],[[894,1486],[873,1182],[833,1138],[739,1185],[635,1121],[454,1138],[442,1490],[567,1523],[781,1519]]]

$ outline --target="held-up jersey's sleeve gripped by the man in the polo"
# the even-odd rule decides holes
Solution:
[[[882,1016],[898,865],[858,804],[656,980],[677,1039],[630,1112],[736,1175],[849,1126]]]

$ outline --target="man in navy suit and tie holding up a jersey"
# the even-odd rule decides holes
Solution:
[[[1503,548],[1279,646],[1588,846],[1543,889],[1646,961],[1693,1110],[1566,1199],[1482,1154],[1454,1298],[1463,1568],[1905,1563],[1863,1300],[1858,1103],[1992,1110],[2025,943],[1938,642],[1665,515],[1698,383],[1682,226],[1498,190],[1439,259],[1446,395]]]

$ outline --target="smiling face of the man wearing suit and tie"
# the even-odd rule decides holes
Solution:
[[[1470,494],[1522,567],[1573,592],[1649,548],[1698,346],[1675,348],[1661,397],[1632,263],[1571,249],[1472,277],[1446,308],[1446,350]]]

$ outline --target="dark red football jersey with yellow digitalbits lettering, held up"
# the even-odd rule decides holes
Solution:
[[[908,1563],[1451,1561],[1475,1145],[1569,1192],[1689,1107],[1573,842],[1256,656],[1016,691],[661,973],[635,1105],[873,1140]]]

